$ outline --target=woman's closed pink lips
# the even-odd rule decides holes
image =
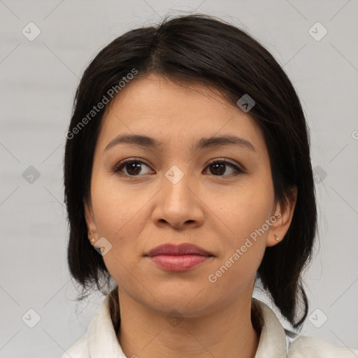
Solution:
[[[210,252],[189,243],[159,245],[144,255],[164,271],[187,271],[214,257]]]

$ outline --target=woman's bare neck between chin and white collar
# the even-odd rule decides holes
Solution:
[[[166,317],[119,293],[117,338],[127,357],[254,358],[259,334],[251,320],[251,296],[199,317]]]

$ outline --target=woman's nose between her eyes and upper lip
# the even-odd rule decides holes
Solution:
[[[173,173],[174,176],[171,176]],[[184,173],[180,174],[176,169],[166,173],[152,212],[155,224],[169,224],[176,229],[182,229],[188,224],[192,227],[203,224],[205,204],[193,179]]]

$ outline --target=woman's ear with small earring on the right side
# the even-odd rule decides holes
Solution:
[[[294,208],[297,201],[297,187],[291,187],[289,189],[291,195],[286,195],[283,202],[278,202],[273,208],[272,216],[276,217],[275,222],[271,224],[268,236],[266,238],[266,246],[274,246],[282,241],[286,235],[289,225],[292,222],[294,216]],[[272,221],[272,220],[271,220]],[[276,240],[278,238],[278,240]]]

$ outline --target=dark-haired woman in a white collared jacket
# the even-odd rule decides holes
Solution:
[[[355,357],[285,331],[308,315],[308,129],[254,38],[207,15],[134,29],[76,93],[64,157],[71,275],[115,288],[63,357]]]

